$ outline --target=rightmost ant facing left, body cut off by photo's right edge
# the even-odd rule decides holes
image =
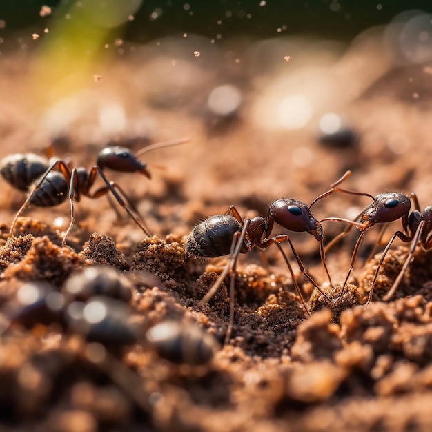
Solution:
[[[349,175],[351,175],[351,171],[347,171],[347,173],[345,174],[346,177],[348,177]],[[342,286],[342,291],[341,291],[340,295],[338,295],[335,302],[340,300],[342,295],[344,295],[346,284],[348,282],[348,279],[351,275],[351,271],[353,270],[353,267],[355,264],[355,259],[357,259],[357,253],[358,253],[360,244],[362,243],[362,239],[364,239],[364,235],[366,234],[367,230],[372,228],[372,226],[374,226],[375,224],[384,224],[384,228],[385,228],[386,224],[389,224],[389,222],[396,221],[397,219],[402,219],[402,227],[404,228],[404,233],[408,233],[407,235],[405,235],[401,231],[397,231],[393,235],[393,237],[391,238],[389,244],[387,244],[386,248],[384,249],[384,253],[380,259],[380,264],[378,264],[377,270],[375,271],[375,276],[373,278],[373,284],[371,286],[371,290],[369,291],[369,297],[368,297],[368,300],[366,302],[366,305],[367,305],[372,300],[373,286],[375,285],[375,280],[377,278],[378,271],[380,269],[380,266],[382,265],[382,262],[384,262],[384,257],[386,255],[387,251],[389,251],[390,245],[393,243],[393,240],[395,239],[395,237],[400,237],[400,239],[402,239],[404,242],[411,242],[411,240],[413,238],[418,237],[415,239],[415,244],[417,244],[419,239],[420,239],[420,236],[422,235],[424,224],[429,223],[429,220],[424,221],[424,223],[421,225],[421,227],[419,227],[419,225],[421,224],[420,219],[422,217],[424,219],[426,219],[426,217],[429,216],[429,211],[426,214],[426,210],[427,210],[427,208],[426,208],[426,210],[424,210],[423,215],[421,215],[419,212],[416,212],[416,214],[413,217],[410,216],[410,219],[409,219],[408,215],[409,215],[409,211],[411,208],[411,200],[410,200],[410,197],[408,197],[407,195],[404,195],[403,193],[385,192],[385,193],[380,193],[380,194],[376,195],[375,197],[373,197],[373,195],[370,195],[369,193],[362,193],[362,192],[357,192],[355,190],[348,190],[348,189],[335,187],[338,184],[340,184],[340,181],[336,182],[335,184],[332,184],[330,186],[331,189],[328,190],[328,192],[320,195],[320,198],[326,197],[326,196],[331,195],[335,192],[342,192],[342,193],[348,193],[351,195],[362,195],[365,197],[370,197],[371,199],[373,199],[373,202],[371,204],[369,204],[369,206],[366,206],[362,210],[362,213],[360,213],[360,215],[358,215],[355,218],[355,221],[357,219],[359,219],[359,222],[349,221],[347,219],[343,219],[340,217],[327,217],[326,219],[322,219],[323,221],[327,220],[327,221],[346,222],[349,224],[342,233],[337,235],[331,242],[329,242],[327,244],[327,246],[324,249],[324,253],[326,253],[332,246],[334,246],[334,244],[339,242],[340,239],[342,239],[346,235],[348,235],[349,231],[351,230],[351,228],[353,228],[353,226],[357,226],[357,228],[359,228],[359,230],[360,230],[360,235],[357,238],[357,242],[355,242],[353,253],[351,255],[351,262],[350,262],[350,266],[348,268],[348,273],[346,274],[346,277],[345,277],[344,285]],[[420,208],[420,206],[418,206],[418,202],[417,202],[416,206]],[[415,212],[413,212],[413,213],[415,213]],[[428,225],[428,227],[429,226],[430,225]],[[421,230],[420,230],[420,228],[421,228]],[[408,229],[411,231],[411,233],[416,232],[416,235],[409,233],[407,231]],[[432,229],[432,227],[431,227],[431,229]],[[418,230],[420,230],[420,232]],[[430,230],[428,232],[430,232]],[[383,233],[384,233],[384,230],[382,230],[379,239],[381,238]],[[379,239],[377,242],[380,241]],[[429,242],[427,241],[426,238],[423,239],[423,237],[422,237],[422,244],[424,244],[424,246],[426,246],[426,247],[429,247]],[[412,257],[412,255],[411,255],[411,257]],[[411,260],[411,257],[409,257],[410,260]],[[408,266],[408,264],[406,264],[406,266]],[[400,280],[397,281],[397,283],[399,283],[399,282],[400,282]],[[392,289],[393,289],[393,287],[392,287]],[[394,288],[393,292],[395,291],[395,289],[396,288]],[[391,295],[393,295],[393,292],[391,292]],[[390,294],[390,292],[389,292],[389,294]],[[389,294],[387,296],[389,296]],[[389,296],[389,298],[391,297],[391,295]],[[384,299],[385,299],[385,297],[384,297]]]

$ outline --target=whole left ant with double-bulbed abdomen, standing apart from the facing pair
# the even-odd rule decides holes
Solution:
[[[141,228],[144,234],[150,237],[148,229],[132,213],[133,210],[139,216],[128,195],[117,183],[108,180],[104,174],[104,169],[109,168],[121,173],[138,172],[151,179],[147,164],[138,159],[139,155],[163,147],[185,144],[188,141],[189,139],[164,141],[144,147],[136,154],[126,147],[106,146],[100,151],[96,164],[90,170],[86,170],[83,167],[72,168],[71,170],[68,162],[53,157],[52,150],[50,149],[47,151],[47,157],[41,157],[34,153],[17,153],[5,157],[0,162],[1,175],[15,188],[28,192],[26,201],[19,208],[12,221],[9,233],[10,237],[14,236],[17,220],[28,206],[31,204],[40,207],[57,206],[63,203],[68,197],[70,201],[70,224],[61,241],[61,246],[66,246],[66,239],[70,235],[75,222],[74,200],[79,202],[81,195],[93,199],[107,195],[108,193],[112,193],[119,206],[124,208],[135,224]],[[95,184],[97,175],[101,177],[106,186],[101,186],[99,189],[90,192],[90,189]],[[130,210],[131,208],[132,210]]]

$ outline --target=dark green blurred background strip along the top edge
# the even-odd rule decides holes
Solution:
[[[10,32],[37,28],[46,23],[43,17],[39,17],[41,6],[50,6],[55,10],[71,7],[74,3],[85,5],[88,1],[3,0],[1,19],[7,23]],[[90,3],[101,8],[110,5],[110,1]],[[275,36],[279,26],[286,27],[283,29],[285,35],[315,35],[346,41],[366,28],[389,23],[405,10],[432,10],[431,2],[427,0],[126,0],[111,3],[121,3],[126,8],[128,3],[132,4],[134,20],[128,23],[126,39],[139,43],[164,35],[182,35],[184,32],[209,38],[219,33],[224,37],[248,34],[268,38]]]

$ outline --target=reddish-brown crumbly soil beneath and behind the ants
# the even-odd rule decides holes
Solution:
[[[266,217],[282,197],[311,204],[348,169],[345,188],[373,196],[415,191],[420,204],[428,204],[432,66],[395,62],[380,37],[378,29],[349,46],[295,38],[218,46],[193,36],[186,45],[180,38],[125,45],[122,55],[93,68],[86,86],[65,92],[56,104],[47,96],[55,84],[48,86],[29,60],[35,55],[1,57],[4,156],[42,154],[52,144],[62,159],[90,168],[112,139],[137,151],[149,142],[190,138],[145,155],[151,181],[106,171],[144,215],[151,238],[121,208],[116,215],[104,197],[75,204],[64,248],[67,203],[28,208],[16,237],[9,237],[25,194],[1,180],[1,430],[431,430],[431,253],[417,248],[394,299],[382,302],[409,251],[397,240],[373,301],[364,306],[383,249],[367,260],[380,231],[373,226],[346,293],[329,304],[282,244],[308,317],[277,248],[266,251],[268,266],[255,248],[239,258],[235,324],[222,346],[231,276],[207,305],[199,300],[226,257],[202,262],[184,251],[190,231],[206,217],[230,205],[242,217]],[[208,105],[210,92],[224,84],[242,96],[228,115]],[[293,100],[297,108],[289,110]],[[303,110],[306,126],[290,129]],[[328,112],[340,115],[348,130],[336,143],[318,128]],[[336,193],[313,212],[317,219],[353,219],[370,203]],[[323,227],[326,244],[345,225]],[[390,224],[382,244],[400,229],[400,220]],[[282,233],[288,232],[275,226],[271,235]],[[318,242],[308,233],[288,234],[308,274],[337,297],[358,233],[353,229],[327,253],[333,288]],[[75,325],[65,312],[77,300],[67,297],[65,282],[94,266],[115,268],[132,283],[130,298],[118,293],[123,288],[106,295],[117,297],[107,303],[113,321],[96,329]],[[43,293],[30,308],[21,299],[28,284]],[[66,303],[48,310],[48,293],[61,293]],[[175,320],[183,335],[179,345],[173,337],[168,350],[148,333],[165,320]],[[190,328],[195,333],[188,339]]]

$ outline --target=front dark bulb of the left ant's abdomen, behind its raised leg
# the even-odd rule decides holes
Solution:
[[[30,204],[39,207],[53,207],[63,203],[68,197],[69,182],[60,171],[50,171],[39,189],[30,200]]]

